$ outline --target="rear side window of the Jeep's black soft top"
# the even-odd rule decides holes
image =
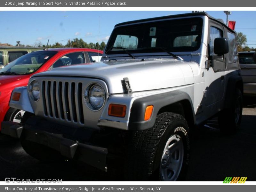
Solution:
[[[236,63],[237,61],[237,46],[236,46],[236,36],[234,33],[230,33],[228,31],[228,46],[229,46],[229,52],[228,52],[228,63]]]

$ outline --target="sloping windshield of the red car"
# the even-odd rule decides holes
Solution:
[[[56,51],[36,51],[28,53],[4,66],[4,68],[0,69],[0,73],[10,72],[8,74],[15,73],[16,75],[33,73],[56,53]]]

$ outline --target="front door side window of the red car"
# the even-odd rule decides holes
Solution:
[[[62,56],[49,69],[81,63],[85,63],[84,52],[74,52]]]

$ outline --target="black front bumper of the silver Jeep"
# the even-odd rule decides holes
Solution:
[[[103,171],[107,171],[107,148],[80,143],[76,140],[65,138],[58,132],[52,133],[40,129],[29,128],[29,126],[23,127],[21,124],[9,121],[2,122],[1,133],[14,138],[23,137],[22,139],[55,149],[59,151],[62,156],[68,157],[69,159],[81,161]]]

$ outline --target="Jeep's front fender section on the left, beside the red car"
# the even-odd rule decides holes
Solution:
[[[16,93],[20,93],[20,100],[18,101],[14,101],[12,100],[12,96],[11,96],[11,100],[9,103],[9,106],[12,108],[17,108],[23,111],[28,111],[30,113],[34,113],[34,110],[31,106],[31,103],[29,101],[29,96],[28,96],[28,89],[27,86],[24,87],[16,87],[13,91],[12,94],[16,92]]]

